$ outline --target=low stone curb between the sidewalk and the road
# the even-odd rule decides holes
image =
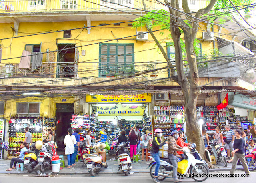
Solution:
[[[214,169],[209,169],[209,172],[215,172],[215,171],[230,171],[231,168],[214,168]],[[236,170],[244,170],[243,168],[236,168]],[[149,171],[131,171],[134,174],[135,173],[149,173]],[[23,171],[23,172],[8,172],[8,171],[4,171],[4,172],[0,172],[2,174],[30,174],[27,171]],[[36,175],[36,173],[31,173],[32,175]],[[83,174],[90,174],[89,172],[82,172],[82,171],[77,171],[77,172],[58,172],[58,173],[51,173],[52,175],[83,175]],[[100,172],[100,174],[122,174],[121,172],[118,171],[114,171],[114,172]]]

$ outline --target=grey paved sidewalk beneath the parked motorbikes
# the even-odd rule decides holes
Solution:
[[[105,174],[116,174],[120,173],[118,171],[118,164],[116,161],[117,156],[110,156],[108,157],[107,163],[108,163],[108,168],[102,168],[100,170],[100,173],[105,173]],[[149,168],[147,169],[148,165],[151,163],[151,161],[140,161],[138,163],[132,163],[132,170],[130,173],[149,173]],[[74,174],[89,174],[88,170],[86,169],[86,165],[82,166],[83,163],[76,162],[77,165],[74,165],[72,168],[68,169],[67,168],[67,159],[65,159],[65,167],[60,170],[58,174],[64,174],[64,175],[74,175]],[[12,171],[6,171],[10,167],[10,160],[0,160],[0,173],[10,173],[10,174],[30,174],[25,168],[24,171],[17,171],[12,170]],[[224,167],[222,163],[219,163],[218,165],[215,165],[214,169],[210,169],[210,172],[213,171],[229,171],[232,167],[232,164],[228,163],[227,167]],[[17,166],[16,166],[17,168]],[[243,170],[242,165],[237,165],[236,170]],[[39,171],[38,166],[35,167],[34,171],[31,174],[37,175]],[[50,169],[47,169],[45,174],[48,175],[50,173]],[[54,173],[56,174],[56,173]]]

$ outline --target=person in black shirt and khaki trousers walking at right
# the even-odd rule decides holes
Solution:
[[[235,132],[236,138],[234,139],[234,151],[231,152],[231,154],[234,156],[234,160],[232,163],[230,174],[234,174],[238,160],[240,160],[240,162],[242,163],[245,173],[250,174],[247,163],[245,162],[245,159],[244,159],[245,145],[244,145],[244,139],[241,137],[241,135],[242,135],[241,129],[237,129]]]

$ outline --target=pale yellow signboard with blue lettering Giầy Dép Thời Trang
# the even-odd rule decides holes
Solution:
[[[97,105],[98,116],[142,116],[144,110],[146,109],[146,104],[143,105]]]

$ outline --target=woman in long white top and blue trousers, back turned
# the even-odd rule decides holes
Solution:
[[[72,155],[75,151],[74,144],[76,144],[76,137],[75,137],[75,135],[72,135],[71,128],[68,129],[68,135],[65,136],[64,144],[66,145],[65,155],[67,155],[67,157],[68,157],[68,168],[70,168],[70,167],[72,167],[72,165],[71,165]]]

